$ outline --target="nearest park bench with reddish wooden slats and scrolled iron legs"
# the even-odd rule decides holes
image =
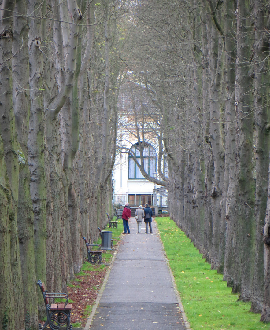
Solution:
[[[72,330],[72,324],[70,324],[72,305],[68,303],[68,295],[66,293],[48,293],[41,280],[38,280],[37,285],[41,289],[47,314],[47,321],[44,325],[39,323],[39,330],[45,329],[47,325],[49,325],[52,330],[58,330],[60,326],[64,326],[65,324],[67,330]],[[50,298],[61,298],[65,300],[65,302],[50,304]]]

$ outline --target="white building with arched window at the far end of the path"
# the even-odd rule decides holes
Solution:
[[[131,79],[132,81],[132,79]],[[120,116],[118,127],[118,153],[113,170],[114,203],[123,206],[127,202],[131,207],[148,203],[167,205],[164,196],[156,196],[154,189],[160,187],[145,179],[134,161],[140,164],[139,139],[145,147],[143,150],[144,170],[152,178],[159,179],[157,174],[158,137],[155,134],[155,108],[143,88],[129,82],[120,91],[118,101]],[[135,154],[136,153],[136,154]],[[163,164],[167,169],[167,165]],[[162,169],[162,170],[163,170]],[[165,201],[166,200],[166,201]]]

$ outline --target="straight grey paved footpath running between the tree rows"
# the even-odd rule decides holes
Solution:
[[[122,242],[101,295],[90,330],[186,330],[156,223],[153,234],[131,234]],[[118,224],[122,226],[119,221]],[[89,323],[89,322],[88,322]],[[86,327],[85,327],[86,328]]]

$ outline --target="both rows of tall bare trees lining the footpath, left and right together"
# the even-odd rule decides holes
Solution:
[[[269,1],[0,3],[0,330],[36,329],[37,279],[79,272],[112,213],[118,128],[155,140],[160,180],[141,172],[270,321]]]

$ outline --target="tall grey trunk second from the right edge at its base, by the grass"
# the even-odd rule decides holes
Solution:
[[[252,288],[251,311],[262,311],[264,295],[264,246],[263,226],[267,205],[268,184],[268,154],[269,154],[269,41],[265,30],[269,28],[269,15],[265,10],[265,1],[254,1],[255,43],[254,43],[254,153],[256,158],[256,190],[255,190],[255,270]]]

